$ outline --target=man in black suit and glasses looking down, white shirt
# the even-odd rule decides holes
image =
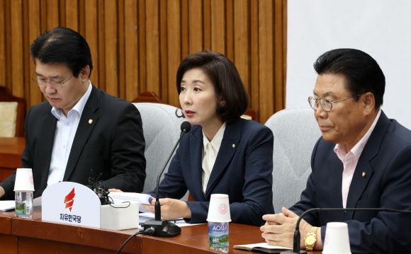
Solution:
[[[93,64],[84,37],[69,28],[40,35],[30,54],[33,81],[47,101],[28,110],[21,167],[33,169],[34,197],[60,181],[141,192],[145,139],[135,106],[89,81]],[[0,197],[14,199],[16,173],[0,183]]]

